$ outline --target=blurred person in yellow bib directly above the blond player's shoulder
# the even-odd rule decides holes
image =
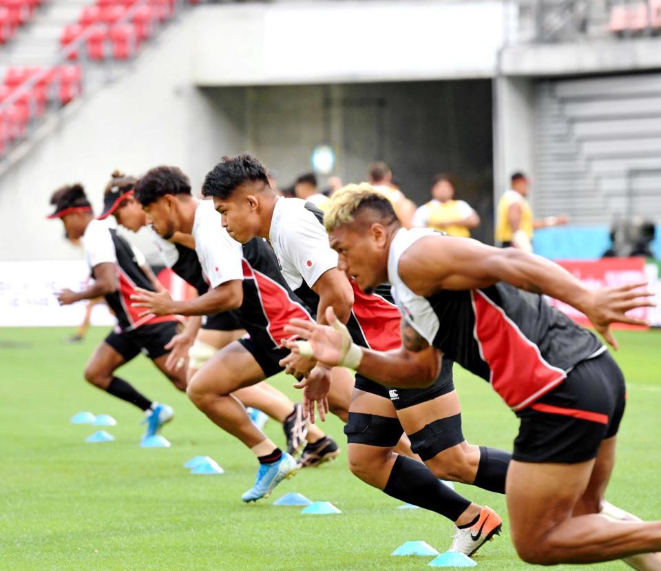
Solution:
[[[413,215],[413,226],[428,227],[461,238],[470,238],[470,229],[480,225],[480,217],[465,200],[454,199],[449,174],[437,174],[432,182],[432,200]]]

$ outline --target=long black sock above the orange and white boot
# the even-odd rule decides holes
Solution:
[[[398,455],[384,492],[419,508],[444,515],[450,521],[470,506],[470,501],[445,486],[429,468],[412,458]]]

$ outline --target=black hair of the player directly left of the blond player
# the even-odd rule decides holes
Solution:
[[[249,153],[224,156],[204,177],[202,196],[226,199],[241,185],[257,181],[269,186],[268,170],[258,158]]]

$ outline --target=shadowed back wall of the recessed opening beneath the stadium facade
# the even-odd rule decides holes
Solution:
[[[333,174],[344,183],[366,179],[370,163],[385,160],[417,204],[429,200],[437,172],[457,176],[457,197],[483,224],[474,236],[492,236],[492,87],[490,81],[428,81],[218,88],[240,98],[246,91],[249,148],[279,172],[286,186],[311,170],[316,145],[337,154]],[[322,185],[325,178],[320,178]]]

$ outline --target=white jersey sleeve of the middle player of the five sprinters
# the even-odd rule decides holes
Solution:
[[[243,280],[243,249],[220,225],[200,227],[196,236],[196,241],[198,240],[200,264],[211,289],[232,280]]]

